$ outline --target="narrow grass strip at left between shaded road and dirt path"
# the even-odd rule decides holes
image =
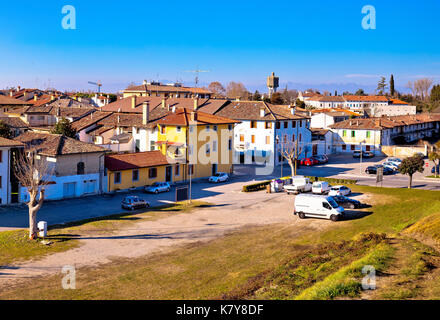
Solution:
[[[67,223],[63,226],[52,226],[49,228],[46,239],[50,241],[50,245],[43,244],[41,239],[28,240],[28,230],[0,232],[0,265],[42,258],[48,254],[70,250],[80,245],[76,238],[81,233],[114,233],[140,220],[158,220],[176,213],[189,213],[194,208],[207,206],[210,204],[202,201],[193,201],[191,204],[176,203],[144,212],[121,213]]]

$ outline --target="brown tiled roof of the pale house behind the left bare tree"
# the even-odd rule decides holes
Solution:
[[[107,150],[94,144],[81,142],[59,134],[25,132],[14,140],[22,142],[38,154],[56,157],[79,153],[102,153]]]

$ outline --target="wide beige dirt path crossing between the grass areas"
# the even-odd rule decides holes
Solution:
[[[242,197],[241,204],[228,205],[225,201],[223,206],[198,209],[191,214],[140,221],[110,235],[81,234],[78,248],[2,269],[0,289],[28,278],[60,273],[66,265],[74,265],[76,269],[96,267],[110,263],[112,258],[136,258],[193,242],[209,241],[249,225],[285,223],[297,226],[300,231],[304,228],[323,229],[332,224],[327,220],[300,221],[292,215],[294,198],[285,194],[257,193]]]

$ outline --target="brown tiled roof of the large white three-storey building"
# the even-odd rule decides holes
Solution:
[[[264,117],[261,117],[261,109],[265,110]],[[293,115],[290,106],[273,105],[263,101],[233,101],[223,107],[216,115],[236,120],[275,121],[306,119],[306,117],[298,114]]]

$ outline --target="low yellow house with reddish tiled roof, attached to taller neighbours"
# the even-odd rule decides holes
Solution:
[[[170,161],[160,151],[109,155],[105,157],[105,167],[109,191],[183,180],[181,164]]]

